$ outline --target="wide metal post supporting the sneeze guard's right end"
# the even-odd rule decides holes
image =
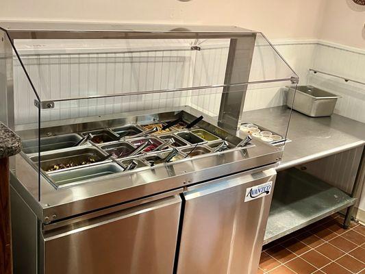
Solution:
[[[236,132],[241,123],[247,92],[247,84],[242,83],[249,82],[255,40],[256,34],[247,34],[231,38],[229,44],[225,87],[218,114],[218,125],[228,132]]]

